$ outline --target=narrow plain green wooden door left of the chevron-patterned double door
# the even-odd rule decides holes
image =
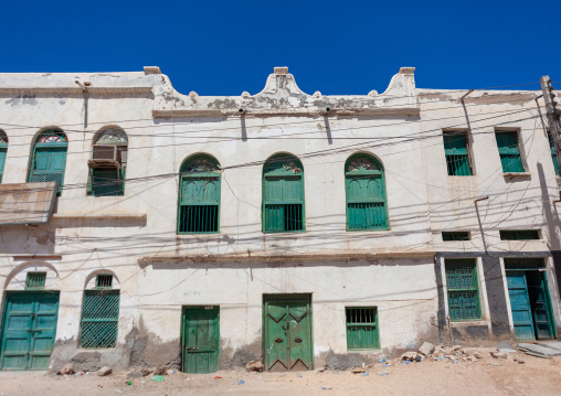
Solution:
[[[219,366],[219,308],[183,308],[183,372],[214,373]]]

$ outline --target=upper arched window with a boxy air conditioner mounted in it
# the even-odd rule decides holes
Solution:
[[[98,132],[92,146],[88,191],[94,196],[125,194],[128,138],[125,131],[113,128]]]

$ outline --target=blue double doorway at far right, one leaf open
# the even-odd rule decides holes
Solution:
[[[543,271],[507,270],[507,286],[516,339],[552,339],[553,317]]]

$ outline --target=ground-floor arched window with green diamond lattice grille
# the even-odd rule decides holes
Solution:
[[[97,275],[95,289],[84,290],[80,343],[86,349],[115,347],[117,344],[120,290],[112,286],[97,287],[99,279],[104,285],[113,286],[113,275],[103,274]]]

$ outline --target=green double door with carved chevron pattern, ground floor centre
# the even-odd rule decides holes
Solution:
[[[311,296],[266,295],[263,309],[265,368],[311,370]]]

